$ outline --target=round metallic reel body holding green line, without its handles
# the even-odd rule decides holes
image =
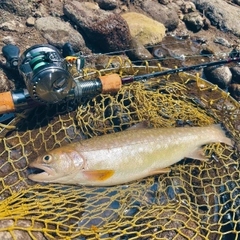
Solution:
[[[51,45],[39,44],[27,49],[19,59],[18,69],[34,100],[60,102],[72,89],[73,78],[60,53]]]

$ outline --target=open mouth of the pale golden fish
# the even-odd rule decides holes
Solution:
[[[28,178],[30,180],[45,182],[45,180],[54,176],[55,171],[48,166],[32,163],[29,165],[29,173]]]

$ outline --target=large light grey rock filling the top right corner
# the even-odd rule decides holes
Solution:
[[[192,0],[196,8],[223,32],[240,36],[240,9],[222,0]]]

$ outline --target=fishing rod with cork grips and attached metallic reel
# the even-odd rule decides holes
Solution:
[[[0,93],[0,122],[6,119],[6,113],[32,108],[43,104],[56,104],[66,100],[81,100],[99,93],[115,93],[124,84],[143,81],[159,76],[198,70],[209,66],[240,62],[239,53],[227,59],[207,62],[187,67],[169,69],[149,74],[127,76],[118,74],[100,76],[97,79],[76,81],[68,71],[68,64],[75,63],[80,72],[84,67],[85,57],[75,53],[69,43],[63,47],[62,55],[55,47],[48,44],[34,45],[19,57],[19,48],[6,45],[2,49],[6,65],[18,70],[23,77],[26,89]]]

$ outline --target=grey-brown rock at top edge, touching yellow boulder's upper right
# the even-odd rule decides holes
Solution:
[[[162,5],[153,0],[144,0],[141,8],[154,20],[162,23],[168,29],[168,31],[172,31],[177,28],[179,23],[177,5],[173,3]]]

